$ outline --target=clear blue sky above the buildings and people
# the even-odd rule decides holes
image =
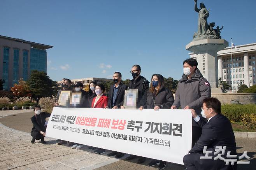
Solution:
[[[256,43],[255,0],[200,2],[210,9],[208,23],[224,25],[222,38]],[[0,35],[54,46],[47,50],[53,80],[115,71],[132,79],[133,64],[148,80],[154,73],[179,80],[198,13],[193,0],[2,0],[0,19]]]

